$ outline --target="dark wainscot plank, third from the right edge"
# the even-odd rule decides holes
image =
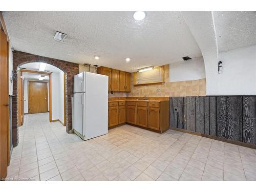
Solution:
[[[217,137],[227,138],[227,97],[217,96]]]

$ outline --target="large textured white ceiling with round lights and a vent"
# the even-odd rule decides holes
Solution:
[[[4,12],[15,50],[76,63],[136,71],[199,57],[201,51],[180,12]],[[53,40],[67,33],[65,42]],[[94,56],[99,55],[100,60]],[[126,63],[124,58],[131,57]]]

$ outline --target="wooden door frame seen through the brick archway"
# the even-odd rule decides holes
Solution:
[[[49,75],[49,121],[52,122],[52,74],[48,72],[40,72],[40,71],[33,71],[33,70],[28,70],[28,69],[20,69],[20,76],[22,76],[23,73],[36,73],[36,74],[44,74],[44,75]],[[23,91],[23,86],[22,86],[22,91]],[[24,91],[23,91],[24,93]],[[24,95],[23,95],[24,97]],[[24,99],[22,102],[22,109],[23,109],[23,116],[24,116]]]

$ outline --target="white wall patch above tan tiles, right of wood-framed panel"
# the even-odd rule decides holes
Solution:
[[[169,81],[187,81],[205,78],[203,57],[180,61],[169,65]]]

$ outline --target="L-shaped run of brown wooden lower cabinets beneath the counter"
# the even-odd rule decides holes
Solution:
[[[109,126],[125,122],[163,133],[169,129],[169,101],[110,102]]]

